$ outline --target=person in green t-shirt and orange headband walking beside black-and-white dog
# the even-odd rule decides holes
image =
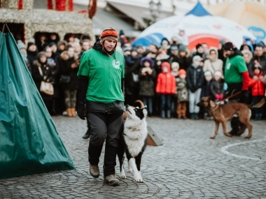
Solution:
[[[104,181],[119,184],[115,175],[116,154],[120,128],[125,112],[123,79],[125,61],[116,51],[118,33],[112,27],[104,29],[100,40],[83,53],[78,71],[78,117],[90,123],[88,149],[90,175],[99,177],[99,157],[106,140],[104,154]]]

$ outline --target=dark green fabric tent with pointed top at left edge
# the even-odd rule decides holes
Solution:
[[[12,34],[0,31],[0,179],[71,169]]]

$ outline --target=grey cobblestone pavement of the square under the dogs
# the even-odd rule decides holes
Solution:
[[[148,118],[163,145],[148,146],[141,165],[120,186],[90,176],[85,121],[53,117],[76,170],[0,180],[0,198],[266,198],[266,121],[251,121],[253,137],[228,138],[214,121]],[[230,125],[228,125],[228,130]],[[103,154],[100,161],[102,174]],[[127,168],[127,164],[125,165]],[[1,169],[1,168],[0,168]],[[119,177],[118,165],[116,166]]]

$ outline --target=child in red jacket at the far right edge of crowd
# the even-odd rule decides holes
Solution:
[[[250,78],[249,80],[249,87],[251,87],[251,94],[253,98],[252,104],[256,104],[265,96],[265,85],[263,84],[262,68],[258,61],[255,61],[252,69],[253,74],[258,77],[258,81],[255,81],[253,78]],[[262,119],[263,107],[253,108],[253,115],[255,115],[256,120]]]

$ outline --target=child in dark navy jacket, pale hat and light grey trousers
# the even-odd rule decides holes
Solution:
[[[200,102],[200,94],[204,83],[204,72],[200,61],[202,58],[199,55],[193,57],[193,64],[188,67],[186,81],[188,84],[189,93],[189,109],[191,119],[198,119],[197,115],[200,107],[196,104]]]

